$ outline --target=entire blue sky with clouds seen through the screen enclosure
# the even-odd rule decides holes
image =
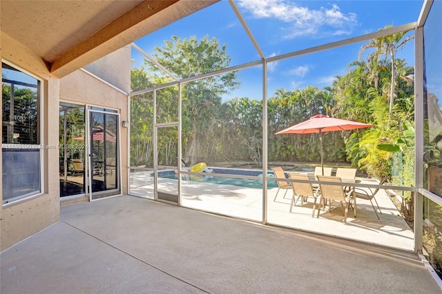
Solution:
[[[249,26],[265,57],[282,55],[340,41],[386,25],[399,26],[417,21],[423,0],[410,1],[292,1],[237,0],[236,6]],[[149,55],[155,46],[163,46],[172,35],[181,39],[191,36],[215,37],[227,45],[231,66],[260,60],[229,2],[222,0],[161,30],[135,41]],[[351,61],[358,59],[364,44],[269,63],[268,95],[278,88],[295,90],[311,85],[331,86],[334,76],[345,75]],[[414,65],[414,41],[398,52],[410,66]],[[133,66],[142,66],[142,57],[133,50]],[[262,98],[262,70],[252,68],[238,72],[242,83],[224,99],[233,97]]]

